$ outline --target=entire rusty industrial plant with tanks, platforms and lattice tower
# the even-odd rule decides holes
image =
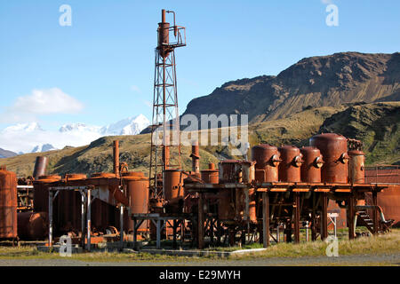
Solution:
[[[172,13],[173,26],[166,22]],[[173,38],[173,40],[172,40]],[[372,234],[400,225],[400,169],[365,167],[362,144],[336,133],[309,138],[308,146],[252,146],[249,160],[223,160],[201,169],[193,141],[191,169],[180,161],[174,49],[185,28],[162,11],[157,29],[154,108],[148,177],[130,171],[113,143],[113,172],[49,175],[36,158],[32,177],[18,180],[0,168],[0,239],[46,240],[68,235],[91,250],[104,241],[178,241],[197,248],[270,241],[324,240],[330,231],[356,227]],[[159,131],[161,130],[161,131]],[[158,131],[158,132],[157,132]],[[161,143],[155,136],[162,134]],[[177,142],[170,143],[170,140]],[[175,164],[172,164],[171,161]],[[306,238],[300,234],[306,230]],[[282,236],[283,234],[283,236]],[[132,237],[132,239],[130,239]]]

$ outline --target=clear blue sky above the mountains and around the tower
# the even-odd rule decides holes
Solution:
[[[71,27],[59,24],[61,4],[72,8]],[[339,8],[338,27],[325,24],[327,4]],[[176,51],[180,113],[222,83],[277,75],[305,57],[400,46],[395,0],[1,1],[0,130],[16,122],[56,129],[151,119],[163,8],[187,28],[188,46]],[[37,93],[47,94],[48,109],[29,109]]]

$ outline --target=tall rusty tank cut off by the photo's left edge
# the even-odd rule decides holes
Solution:
[[[17,235],[17,176],[0,167],[0,239]]]

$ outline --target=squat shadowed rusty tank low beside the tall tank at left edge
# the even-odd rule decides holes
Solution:
[[[49,215],[46,212],[18,213],[20,240],[44,240],[49,233]]]

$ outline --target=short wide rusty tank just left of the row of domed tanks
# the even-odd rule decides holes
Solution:
[[[219,163],[221,183],[252,183],[255,179],[255,162],[225,160]]]

